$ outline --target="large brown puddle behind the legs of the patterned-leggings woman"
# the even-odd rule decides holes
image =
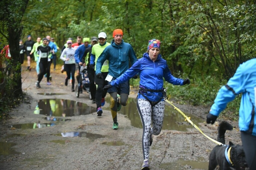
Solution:
[[[106,97],[105,101],[110,104],[110,97]],[[121,107],[121,110],[118,113],[126,115],[131,120],[131,125],[136,128],[142,128],[141,119],[136,107],[136,98],[128,98],[127,105],[125,107]],[[106,110],[110,110],[109,107],[104,108]],[[182,110],[181,110],[182,111]],[[202,118],[199,118],[194,115],[188,115],[184,113],[188,117],[190,117],[191,121],[198,125],[199,122],[203,122]],[[117,117],[118,119],[118,117]],[[172,106],[168,103],[165,103],[165,111],[164,111],[164,119],[163,119],[163,130],[179,130],[179,131],[187,131],[187,128],[193,128],[187,121],[184,121],[185,118]]]

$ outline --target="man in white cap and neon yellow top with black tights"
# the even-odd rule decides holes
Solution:
[[[90,57],[90,68],[93,68],[94,70],[96,70],[95,63],[97,62],[100,54],[108,45],[110,45],[110,43],[107,42],[107,35],[105,32],[100,32],[98,35],[98,38],[99,38],[99,43],[93,45],[92,54]],[[105,96],[107,94],[107,92],[103,91],[102,89],[105,85],[108,84],[108,82],[105,81],[105,78],[108,75],[108,60],[106,60],[103,63],[101,72],[102,72],[102,79],[97,78],[96,74],[94,76],[95,84],[97,84],[95,99],[96,99],[96,111],[98,116],[101,116],[103,113],[101,107],[105,104]]]

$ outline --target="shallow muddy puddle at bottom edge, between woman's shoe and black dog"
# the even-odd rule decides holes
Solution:
[[[191,169],[207,170],[209,162],[203,162],[198,160],[177,160],[175,163],[162,163],[159,167],[163,169],[180,170],[184,169],[184,166],[186,165],[189,165]]]

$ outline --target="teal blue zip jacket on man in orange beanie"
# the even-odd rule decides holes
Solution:
[[[129,59],[132,65],[137,60],[133,47],[129,43],[123,42],[123,40],[120,45],[116,45],[113,39],[111,45],[103,50],[97,60],[96,75],[101,73],[104,61],[108,60],[108,74],[117,78],[129,69]]]

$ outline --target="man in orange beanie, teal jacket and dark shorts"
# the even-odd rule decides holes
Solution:
[[[133,47],[123,41],[123,31],[121,29],[113,31],[113,38],[111,45],[105,47],[96,61],[96,78],[101,79],[103,77],[101,72],[102,65],[105,60],[108,60],[108,75],[105,78],[108,83],[129,69],[129,61],[131,64],[134,64],[137,60]],[[114,130],[118,129],[117,111],[120,110],[121,105],[126,106],[129,92],[129,81],[108,89],[111,101],[110,111],[113,118],[112,129]]]

